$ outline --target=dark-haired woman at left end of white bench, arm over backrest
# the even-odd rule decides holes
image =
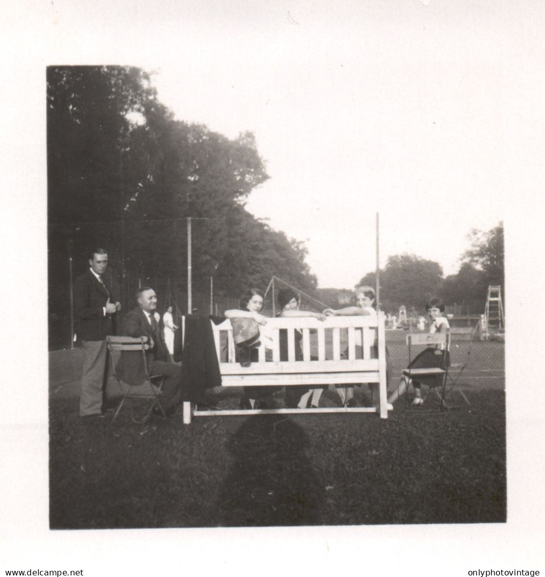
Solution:
[[[265,295],[259,288],[249,288],[239,301],[240,309],[226,310],[224,316],[233,325],[235,357],[241,366],[248,367],[257,361],[259,346],[259,325],[267,324],[267,317],[260,314]],[[244,387],[240,400],[241,409],[267,409],[270,396],[282,387]]]

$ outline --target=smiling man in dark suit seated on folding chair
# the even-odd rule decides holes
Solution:
[[[162,331],[155,319],[157,296],[150,287],[142,287],[136,293],[138,306],[130,310],[123,320],[123,334],[126,336],[148,336],[150,349],[147,364],[150,376],[165,377],[161,404],[167,416],[173,415],[180,402],[181,367],[170,362],[169,353],[163,340]],[[121,379],[129,385],[140,385],[145,379],[145,367],[139,351],[124,351],[117,365]]]

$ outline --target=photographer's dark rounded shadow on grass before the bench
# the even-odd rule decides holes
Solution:
[[[234,463],[216,503],[220,526],[320,524],[324,487],[305,454],[303,429],[283,415],[255,415],[228,441]]]

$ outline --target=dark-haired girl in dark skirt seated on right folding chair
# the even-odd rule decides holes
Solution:
[[[430,332],[446,332],[450,328],[449,321],[443,316],[445,312],[445,304],[440,298],[432,298],[426,304],[426,311],[431,319]],[[410,362],[409,368],[411,369],[428,369],[439,367],[445,369],[446,366],[450,365],[449,351],[445,351],[443,357],[442,354],[437,354],[438,349],[434,346],[426,347],[421,353],[417,354],[415,358]],[[443,360],[444,358],[444,360]],[[422,398],[422,385],[427,385],[428,387],[437,384],[436,375],[421,376],[419,380],[410,379],[413,387],[415,388],[415,398],[413,399],[413,404],[420,405],[424,403]],[[408,384],[405,381],[405,377],[401,377],[400,383],[395,388],[395,390],[390,395],[388,399],[389,403],[393,403],[397,400],[398,396],[404,394],[407,390]]]

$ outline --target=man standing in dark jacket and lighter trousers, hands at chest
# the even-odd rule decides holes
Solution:
[[[106,250],[94,249],[89,254],[89,265],[91,268],[74,282],[76,334],[84,353],[80,417],[102,414],[106,336],[113,334],[113,317],[121,309],[102,278],[108,266]]]

